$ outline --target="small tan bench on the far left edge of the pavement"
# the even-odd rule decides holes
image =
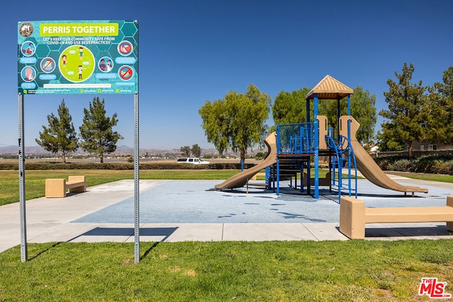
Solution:
[[[86,181],[85,175],[69,176],[68,180],[64,178],[50,178],[45,180],[45,197],[63,198],[66,192],[85,192]]]

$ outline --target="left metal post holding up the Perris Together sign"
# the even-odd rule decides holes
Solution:
[[[21,261],[28,260],[27,221],[25,214],[25,146],[23,141],[23,94],[18,95],[19,103],[19,204],[21,212]]]

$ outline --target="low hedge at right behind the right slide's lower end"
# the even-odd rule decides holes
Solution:
[[[453,156],[421,156],[408,160],[400,156],[374,158],[382,170],[453,175]]]

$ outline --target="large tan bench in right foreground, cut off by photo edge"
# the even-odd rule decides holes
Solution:
[[[340,199],[340,232],[351,239],[365,238],[366,223],[447,222],[453,231],[453,195],[445,207],[367,208],[354,197]]]

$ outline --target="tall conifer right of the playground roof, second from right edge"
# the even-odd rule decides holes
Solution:
[[[391,132],[393,142],[408,144],[409,158],[412,158],[412,142],[423,139],[423,109],[426,105],[426,87],[422,81],[411,83],[414,70],[413,64],[408,66],[405,62],[401,74],[395,71],[397,81],[389,79],[389,91],[384,92],[389,110],[379,112],[389,120],[382,124],[382,132]]]

